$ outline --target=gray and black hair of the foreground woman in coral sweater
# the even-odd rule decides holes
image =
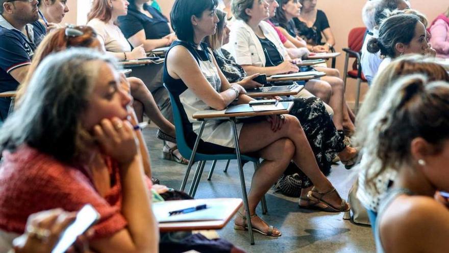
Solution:
[[[26,144],[71,163],[92,141],[81,116],[98,80],[102,64],[117,69],[117,61],[86,48],[69,49],[46,57],[30,80],[20,106],[0,128],[0,150]]]

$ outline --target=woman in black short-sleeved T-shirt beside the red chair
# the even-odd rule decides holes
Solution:
[[[296,34],[306,40],[307,44],[320,46],[314,52],[329,52],[335,45],[334,34],[329,26],[328,17],[316,8],[317,0],[299,0],[303,6],[299,17],[294,17]],[[322,41],[322,35],[326,41]]]

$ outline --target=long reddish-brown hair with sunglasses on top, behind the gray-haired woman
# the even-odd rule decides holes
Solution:
[[[66,29],[75,29],[83,33],[80,36],[66,36]],[[17,89],[16,96],[16,106],[20,103],[20,98],[23,96],[25,91],[27,90],[28,84],[36,71],[36,68],[42,62],[42,60],[47,57],[49,54],[64,51],[70,47],[85,47],[90,48],[92,44],[96,41],[96,33],[95,31],[88,26],[78,26],[72,28],[59,28],[52,31],[50,34],[44,37],[44,39],[39,44],[39,47],[36,49],[36,52],[33,56],[33,61],[31,62],[30,68],[28,70],[27,77],[25,80],[19,85]]]

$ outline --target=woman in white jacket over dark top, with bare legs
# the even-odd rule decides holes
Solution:
[[[264,73],[267,76],[298,72],[299,68],[291,60],[284,45],[273,29],[264,19],[269,16],[267,2],[257,0],[234,0],[232,10],[236,21],[230,34],[230,53],[248,75]],[[309,80],[306,89],[321,98],[334,110],[333,122],[337,130],[343,130],[344,106],[342,82],[330,85],[318,79]],[[350,120],[348,129],[354,131]]]

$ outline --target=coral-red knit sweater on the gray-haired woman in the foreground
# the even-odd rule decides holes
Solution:
[[[90,203],[100,214],[93,226],[94,238],[109,237],[127,225],[121,215],[121,186],[117,164],[105,158],[111,171],[111,189],[98,194],[85,168],[62,164],[55,158],[26,145],[14,153],[3,152],[0,167],[0,228],[22,234],[28,216],[62,208],[79,211]],[[151,188],[151,180],[147,178]]]

